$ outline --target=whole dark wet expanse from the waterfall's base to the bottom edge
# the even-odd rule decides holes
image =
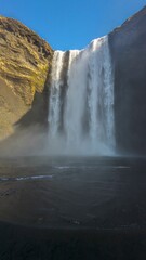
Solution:
[[[145,158],[0,160],[0,260],[146,259]]]

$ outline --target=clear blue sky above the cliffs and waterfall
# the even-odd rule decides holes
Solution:
[[[0,14],[39,34],[53,49],[84,48],[121,25],[146,0],[0,0]]]

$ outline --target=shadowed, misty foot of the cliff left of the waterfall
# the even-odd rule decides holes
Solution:
[[[50,72],[49,72],[50,75]],[[0,143],[0,156],[40,154],[47,143],[49,77],[42,93],[36,93],[32,106],[13,127],[14,133]]]

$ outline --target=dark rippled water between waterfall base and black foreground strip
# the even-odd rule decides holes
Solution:
[[[146,225],[146,159],[0,160],[0,220],[47,227]]]

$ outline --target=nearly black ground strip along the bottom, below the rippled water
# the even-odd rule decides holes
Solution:
[[[1,260],[144,260],[146,230],[47,230],[0,223]]]

